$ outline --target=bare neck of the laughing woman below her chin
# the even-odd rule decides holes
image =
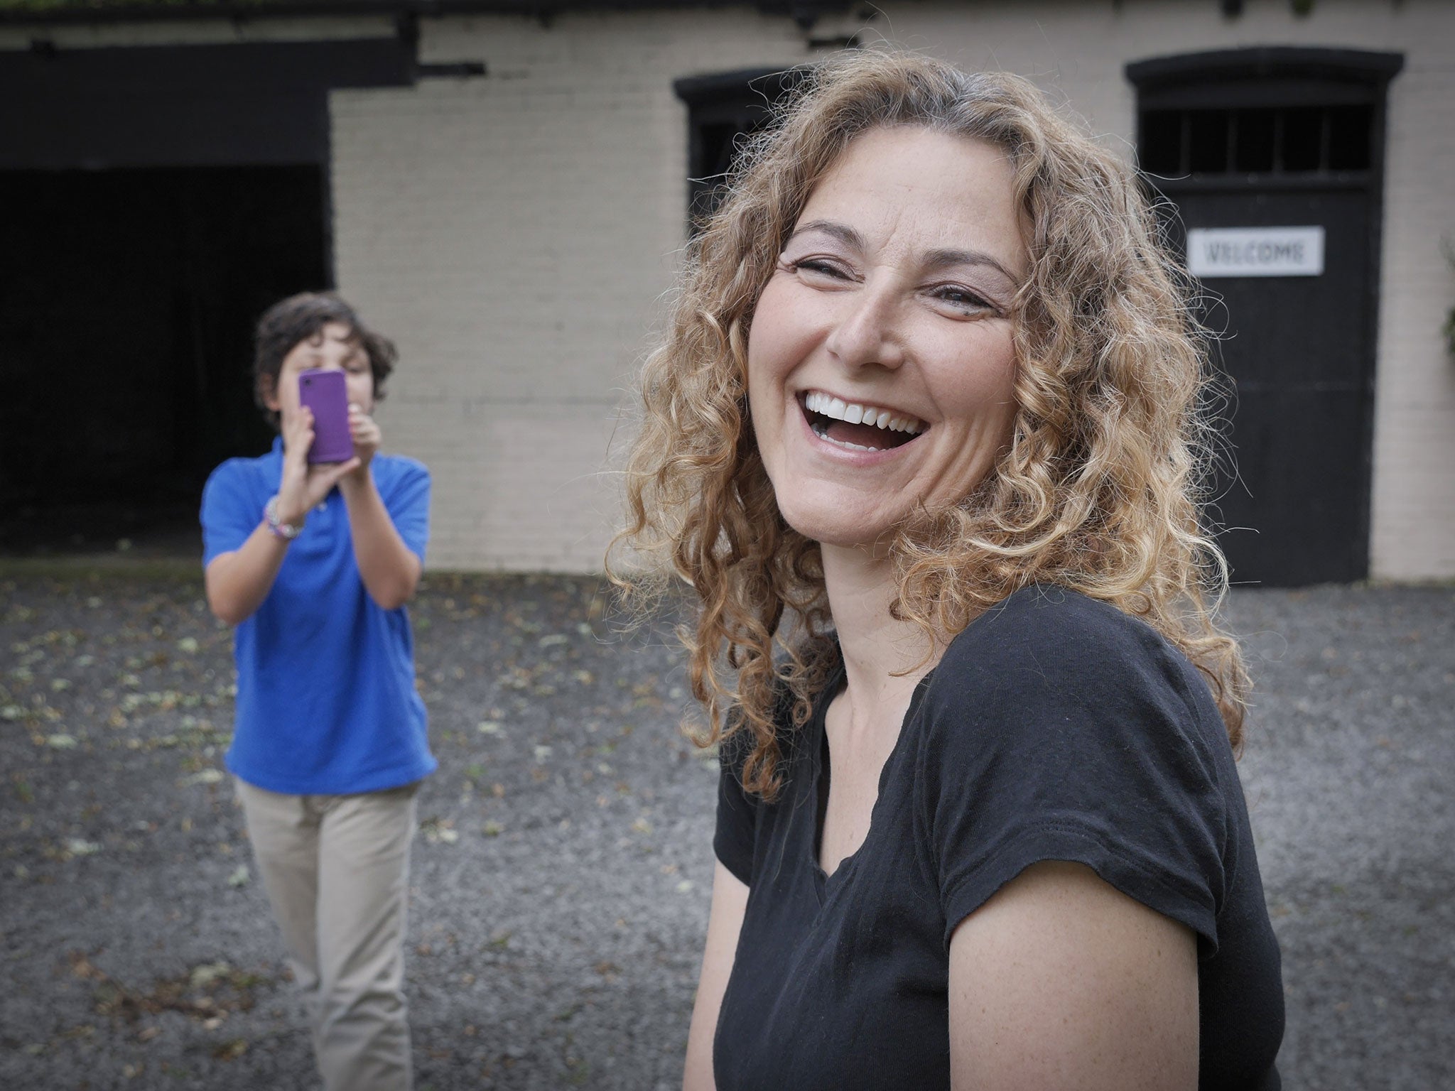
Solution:
[[[892,560],[841,546],[824,546],[822,556],[853,719],[877,720],[882,710],[908,707],[944,647],[936,643],[925,658],[924,630],[889,614],[896,592]]]

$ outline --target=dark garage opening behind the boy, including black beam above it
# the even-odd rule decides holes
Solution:
[[[0,553],[198,548],[272,438],[258,314],[333,284],[329,95],[418,76],[407,33],[0,55]]]

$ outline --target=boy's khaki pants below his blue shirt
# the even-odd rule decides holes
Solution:
[[[404,908],[416,784],[279,796],[236,780],[327,1091],[409,1091]]]

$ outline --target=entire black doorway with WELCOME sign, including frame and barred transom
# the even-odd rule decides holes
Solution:
[[[1270,47],[1128,65],[1168,236],[1187,253],[1200,234],[1189,265],[1228,393],[1206,522],[1235,585],[1369,573],[1384,103],[1401,63]],[[1289,228],[1304,260],[1253,259]],[[1251,249],[1209,260],[1202,233],[1228,230]]]

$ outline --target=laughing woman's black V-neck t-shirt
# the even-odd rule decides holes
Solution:
[[[918,685],[864,844],[818,866],[824,710],[786,724],[768,804],[723,748],[717,858],[749,886],[719,1091],[949,1088],[956,925],[1040,860],[1078,861],[1197,935],[1199,1088],[1275,1091],[1277,941],[1228,736],[1196,668],[1103,602],[1032,586]]]

